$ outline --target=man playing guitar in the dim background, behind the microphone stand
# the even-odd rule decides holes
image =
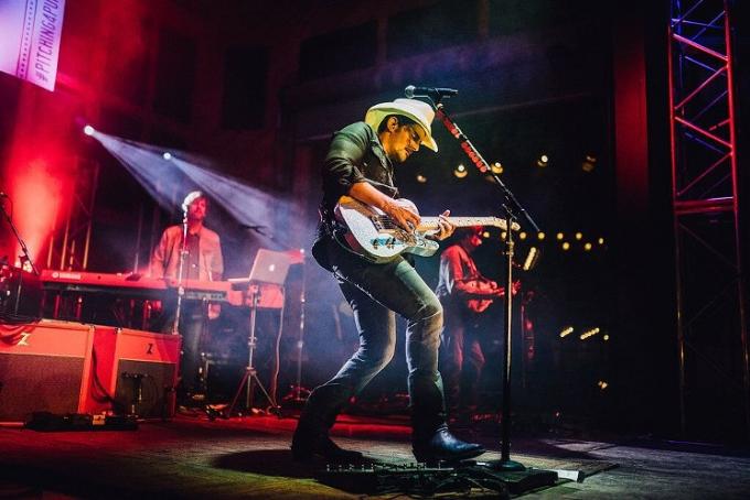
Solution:
[[[481,317],[505,289],[484,278],[472,258],[482,244],[482,227],[459,229],[458,242],[440,256],[437,295],[442,303],[446,328],[442,336],[441,370],[451,419],[469,423],[476,411],[479,383],[484,368]],[[514,283],[513,294],[519,282]]]

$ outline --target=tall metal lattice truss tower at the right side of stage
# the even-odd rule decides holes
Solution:
[[[685,435],[750,435],[732,24],[726,0],[672,0],[669,120],[679,412]]]

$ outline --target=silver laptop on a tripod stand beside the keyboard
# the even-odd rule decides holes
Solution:
[[[239,381],[237,392],[235,392],[235,395],[232,399],[232,404],[229,404],[229,406],[224,412],[226,417],[232,415],[232,411],[234,410],[235,404],[237,404],[237,400],[239,399],[243,388],[246,389],[245,407],[248,411],[253,407],[253,382],[255,382],[258,388],[260,388],[264,395],[270,403],[271,409],[278,412],[279,405],[276,403],[276,398],[268,393],[264,384],[260,382],[260,379],[258,379],[258,372],[253,365],[253,357],[255,355],[255,347],[257,345],[257,338],[255,336],[255,323],[262,285],[272,284],[283,289],[283,283],[287,280],[287,273],[289,272],[290,264],[291,259],[283,252],[275,252],[261,248],[255,256],[253,269],[250,270],[250,276],[248,279],[248,293],[250,295],[250,320],[249,336],[247,338],[247,367],[245,367],[245,374]],[[283,317],[281,317],[279,320],[282,322]]]

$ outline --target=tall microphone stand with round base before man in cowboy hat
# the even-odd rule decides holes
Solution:
[[[493,173],[488,162],[482,157],[482,154],[474,148],[469,138],[461,131],[459,126],[446,112],[444,107],[440,104],[440,99],[446,97],[440,94],[432,94],[429,99],[436,109],[436,117],[442,122],[448,131],[459,141],[461,149],[472,161],[474,166],[483,174],[490,174],[500,187],[504,203],[502,205],[505,213],[505,220],[507,228],[505,230],[505,259],[506,259],[506,281],[505,281],[505,350],[503,352],[503,404],[501,410],[501,458],[500,460],[490,460],[484,463],[488,467],[501,471],[518,471],[526,470],[521,463],[511,460],[511,338],[512,338],[512,312],[513,312],[513,229],[518,226],[517,220],[523,217],[536,232],[539,227],[536,225],[531,215],[515,198],[511,189],[500,180],[497,174]],[[555,475],[555,479],[557,475]]]

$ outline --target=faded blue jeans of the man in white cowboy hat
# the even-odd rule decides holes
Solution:
[[[396,314],[407,320],[406,359],[415,439],[429,438],[444,423],[438,349],[442,306],[432,290],[403,258],[374,264],[330,242],[329,261],[352,306],[360,348],[339,372],[310,394],[299,427],[330,428],[349,402],[393,359]]]

